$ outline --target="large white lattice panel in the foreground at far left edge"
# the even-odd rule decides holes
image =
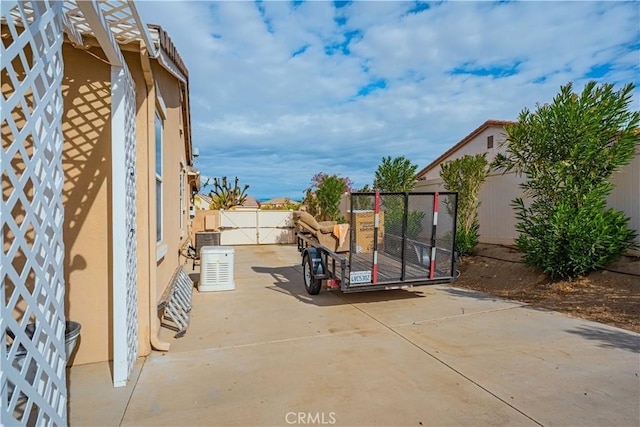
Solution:
[[[0,425],[64,426],[62,5],[1,8]]]

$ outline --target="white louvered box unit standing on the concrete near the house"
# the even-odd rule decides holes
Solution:
[[[200,280],[198,290],[231,291],[236,288],[233,279],[234,250],[230,246],[205,246],[200,250]]]

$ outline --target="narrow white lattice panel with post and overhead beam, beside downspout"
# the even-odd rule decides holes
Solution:
[[[73,3],[73,2],[69,2]],[[117,42],[117,22],[112,3],[83,1],[67,18],[81,32],[95,35],[111,63],[111,191],[112,191],[112,295],[113,384],[127,383],[138,357],[138,311],[135,211],[135,88]],[[82,16],[81,16],[82,15]],[[88,25],[84,28],[83,25]]]

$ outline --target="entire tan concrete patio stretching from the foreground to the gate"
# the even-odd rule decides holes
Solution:
[[[70,369],[70,425],[640,423],[638,334],[449,286],[312,297],[299,264],[235,247],[236,289],[194,290],[127,387]]]

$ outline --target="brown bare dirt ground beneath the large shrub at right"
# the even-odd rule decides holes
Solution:
[[[574,280],[551,281],[520,262],[517,249],[480,244],[458,263],[452,286],[640,333],[640,257],[625,256]]]

